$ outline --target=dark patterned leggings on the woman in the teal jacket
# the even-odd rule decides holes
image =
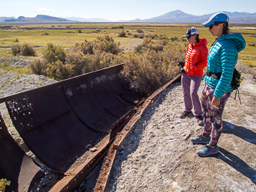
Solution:
[[[213,93],[213,88],[204,86],[204,90],[201,94],[201,105],[204,113],[203,136],[208,137],[211,134],[210,145],[215,147],[223,129],[222,114],[224,111],[224,105],[228,101],[231,93],[225,92],[221,98],[221,103],[217,106],[211,105],[212,98],[214,97]]]

